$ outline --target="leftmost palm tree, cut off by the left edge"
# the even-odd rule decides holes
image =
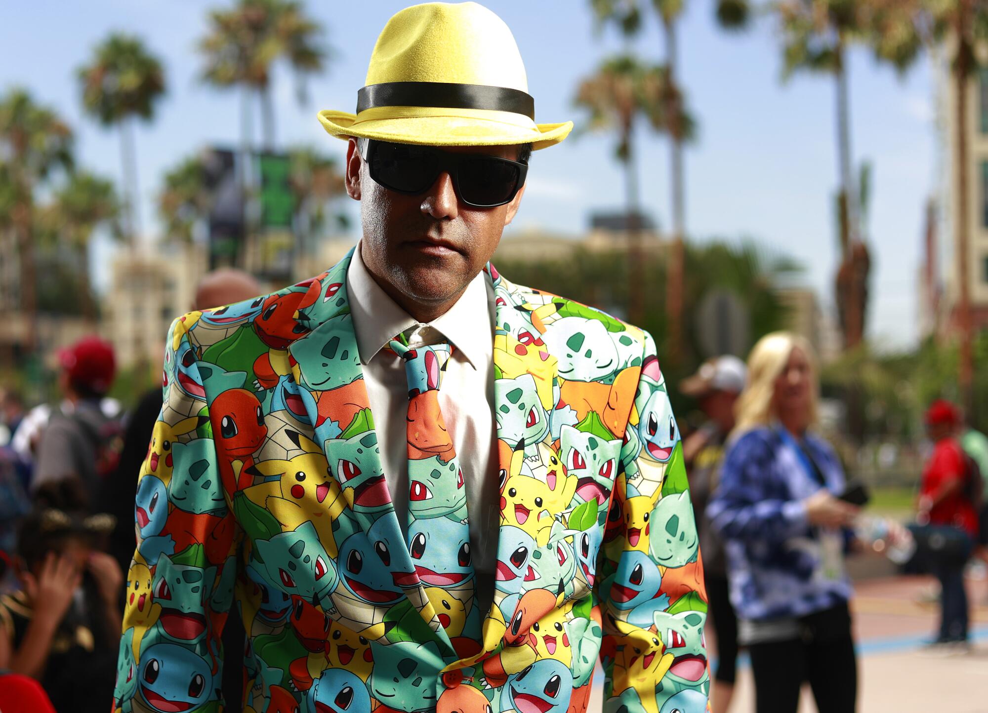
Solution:
[[[6,186],[0,190],[0,229],[15,235],[25,347],[31,352],[37,343],[35,190],[56,170],[72,167],[72,131],[56,112],[36,104],[27,90],[12,89],[0,97],[0,156],[5,159],[0,173]]]

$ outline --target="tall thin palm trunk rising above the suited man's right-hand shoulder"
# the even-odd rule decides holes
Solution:
[[[679,102],[678,85],[676,84],[677,46],[676,25],[672,19],[663,19],[666,37],[666,66],[669,72],[669,82],[677,90],[674,106],[669,107],[672,118],[672,212],[673,239],[669,246],[669,262],[666,275],[666,311],[669,317],[669,339],[666,354],[672,363],[678,363],[682,356],[683,346],[683,240],[686,234],[686,205],[684,199],[683,180],[683,127],[679,125],[682,107]]]

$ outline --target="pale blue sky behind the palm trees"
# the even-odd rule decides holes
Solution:
[[[406,4],[310,0],[309,11],[327,28],[334,56],[326,72],[308,80],[308,106],[296,103],[288,72],[276,72],[280,145],[310,143],[342,156],[345,144],[323,132],[316,112],[354,106],[378,32]],[[576,85],[621,47],[617,35],[595,34],[589,3],[579,0],[489,0],[487,5],[508,23],[522,50],[536,120],[579,120],[572,108]],[[799,259],[806,282],[829,304],[836,262],[833,82],[798,75],[782,85],[771,25],[728,35],[714,23],[712,0],[687,5],[680,66],[700,123],[699,140],[686,154],[689,233],[697,240],[748,236]],[[119,135],[82,117],[74,69],[115,30],[139,35],[162,58],[168,95],[158,118],[137,130],[142,220],[152,233],[157,231],[153,198],[164,171],[204,145],[239,140],[239,95],[198,81],[202,63],[196,41],[206,32],[207,9],[216,6],[198,0],[34,0],[8,4],[0,23],[0,91],[24,85],[56,108],[74,127],[80,163],[114,179],[121,174]],[[636,48],[660,60],[655,23]],[[933,75],[924,59],[898,78],[864,50],[851,54],[850,71],[854,155],[873,166],[869,334],[885,347],[908,346],[916,338],[923,206],[939,181]],[[255,126],[259,136],[258,121]],[[639,145],[643,201],[667,225],[667,144],[649,135]],[[592,211],[618,208],[622,197],[613,138],[569,138],[535,154],[515,225],[579,233]],[[102,246],[95,257],[102,262],[107,254]]]

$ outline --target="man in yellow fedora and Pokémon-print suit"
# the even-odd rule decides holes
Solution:
[[[599,655],[612,705],[702,709],[654,343],[488,263],[527,145],[571,123],[535,124],[510,31],[474,3],[399,12],[366,83],[356,117],[320,115],[349,141],[357,248],[171,331],[117,706],[208,707],[232,612],[245,710],[582,711]]]

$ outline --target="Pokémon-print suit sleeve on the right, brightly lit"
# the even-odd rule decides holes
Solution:
[[[705,710],[706,594],[697,525],[667,385],[655,344],[644,336],[599,562],[606,576],[595,593],[604,628],[605,709],[657,711],[678,696],[674,707]],[[656,422],[660,429],[650,431]],[[675,436],[656,438],[662,429]]]

